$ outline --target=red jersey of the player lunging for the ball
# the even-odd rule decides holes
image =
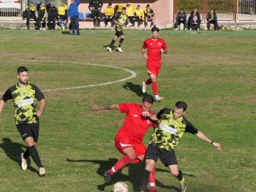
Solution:
[[[121,113],[125,112],[127,115],[124,119],[124,125],[121,126],[117,134],[129,137],[135,142],[142,142],[148,128],[156,125],[149,118],[143,118],[140,104],[119,104],[119,110]],[[153,114],[153,112],[149,112]]]

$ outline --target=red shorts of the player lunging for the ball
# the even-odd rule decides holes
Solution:
[[[126,137],[126,136],[121,136],[120,134],[118,134],[115,138],[115,145],[116,145],[116,149],[124,154],[123,150],[125,148],[128,148],[128,147],[133,147],[135,149],[135,153],[136,153],[136,156],[140,156],[140,155],[145,155],[146,153],[146,146],[143,145],[142,142],[135,142],[131,139],[129,139],[129,137]],[[139,159],[135,159],[134,161],[135,163],[138,163],[140,162]]]

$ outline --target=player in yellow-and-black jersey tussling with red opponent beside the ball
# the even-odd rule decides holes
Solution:
[[[181,191],[186,191],[187,185],[182,172],[178,170],[178,162],[174,151],[185,132],[196,134],[200,139],[217,147],[217,150],[221,150],[219,143],[214,142],[209,139],[206,134],[198,131],[197,128],[184,117],[186,110],[187,104],[184,101],[178,101],[173,110],[164,108],[160,110],[157,115],[149,115],[148,112],[143,113],[145,117],[149,117],[151,120],[157,120],[157,128],[155,128],[146,150],[146,166],[143,172],[141,191],[146,191],[148,175],[151,173],[158,158],[160,158],[162,164],[168,166],[170,173],[178,178]]]

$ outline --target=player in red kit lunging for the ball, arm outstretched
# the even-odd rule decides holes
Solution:
[[[145,95],[140,104],[121,103],[101,106],[92,103],[90,105],[90,108],[93,111],[119,110],[121,113],[126,113],[124,125],[118,130],[115,137],[116,148],[124,156],[120,158],[111,169],[105,172],[104,180],[106,183],[110,183],[111,176],[127,164],[143,161],[146,153],[146,146],[142,142],[143,137],[148,128],[156,126],[156,123],[148,118],[143,118],[142,113],[150,112],[153,114],[153,112],[151,112],[153,103],[153,96]],[[155,170],[154,172],[151,172],[149,183],[151,185],[150,191],[153,192],[155,190]]]

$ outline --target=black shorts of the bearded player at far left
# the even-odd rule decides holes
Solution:
[[[38,141],[39,123],[19,123],[16,126],[23,140],[25,140],[28,137],[33,137],[34,142]]]

